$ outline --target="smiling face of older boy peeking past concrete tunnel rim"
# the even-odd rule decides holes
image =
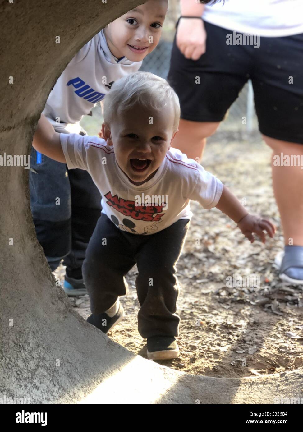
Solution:
[[[149,0],[108,24],[104,33],[112,54],[141,61],[152,52],[162,33],[167,3],[167,0]]]

